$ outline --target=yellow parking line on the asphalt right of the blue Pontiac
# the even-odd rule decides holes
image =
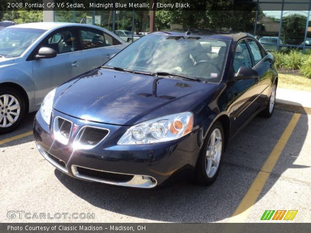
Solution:
[[[290,138],[291,134],[294,131],[294,128],[299,120],[301,114],[295,113],[292,117],[291,121],[288,123],[286,129],[284,130],[282,136],[276,143],[275,148],[272,150],[271,154],[269,155],[268,159],[261,167],[256,179],[248,189],[247,193],[245,194],[244,198],[242,199],[240,205],[233,213],[233,215],[229,218],[228,222],[244,222],[250,213],[253,205],[255,204],[262,188],[264,187],[265,183],[267,182],[269,175],[276,165],[276,162],[281,155],[288,139]]]

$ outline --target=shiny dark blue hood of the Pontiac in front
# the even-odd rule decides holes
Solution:
[[[53,108],[80,119],[133,125],[185,112],[215,86],[101,68],[60,86]]]

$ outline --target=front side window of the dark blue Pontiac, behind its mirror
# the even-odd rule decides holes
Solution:
[[[237,73],[240,67],[248,67],[248,68],[252,67],[252,59],[244,40],[238,42],[234,52],[234,60],[233,60],[234,72]]]

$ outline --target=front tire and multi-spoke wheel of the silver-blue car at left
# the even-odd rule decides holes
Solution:
[[[25,115],[22,95],[14,88],[0,87],[0,134],[14,131]]]

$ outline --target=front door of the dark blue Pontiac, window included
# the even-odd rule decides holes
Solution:
[[[227,96],[230,100],[228,111],[233,119],[232,132],[237,132],[244,124],[248,122],[256,111],[253,101],[258,97],[255,88],[255,79],[233,80],[233,76],[240,67],[253,67],[250,50],[243,39],[235,47],[233,64],[231,67],[232,80],[228,85]]]

